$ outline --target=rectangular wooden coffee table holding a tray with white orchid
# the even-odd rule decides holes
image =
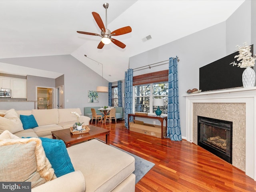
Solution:
[[[110,144],[110,140],[109,140],[110,130],[106,130],[93,125],[87,125],[87,126],[90,128],[90,131],[88,133],[72,134],[70,132],[70,129],[62,129],[62,130],[52,131],[52,138],[63,140],[64,143],[66,144],[66,147],[68,148],[73,144],[90,140],[98,136],[106,135],[106,144],[108,145]]]

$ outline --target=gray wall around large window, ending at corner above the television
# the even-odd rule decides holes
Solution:
[[[225,36],[225,22],[222,22],[218,25],[130,58],[130,68],[137,68],[139,66],[168,60],[170,57],[179,57],[178,86],[180,124],[183,137],[186,137],[186,98],[183,96],[188,89],[199,88],[200,67],[225,56]],[[151,68],[150,72],[166,69],[168,69],[168,64]],[[134,76],[143,74],[144,72],[145,70],[134,72]],[[148,72],[149,71],[146,73]],[[156,124],[159,124],[159,122],[156,122]]]

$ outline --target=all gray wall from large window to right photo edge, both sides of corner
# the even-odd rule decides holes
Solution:
[[[237,44],[242,45],[246,41],[248,44],[255,42],[255,25],[252,28],[254,39],[251,41],[251,5],[255,12],[256,3],[252,2],[251,4],[251,1],[245,1],[226,22],[130,58],[130,68],[138,68],[168,60],[170,57],[179,57],[178,86],[180,124],[183,138],[186,138],[185,92],[188,89],[199,88],[199,68],[237,51],[235,47]],[[255,22],[255,13],[253,16],[252,21]],[[166,69],[168,69],[168,64],[134,72],[134,76]],[[156,122],[156,124],[159,123]]]

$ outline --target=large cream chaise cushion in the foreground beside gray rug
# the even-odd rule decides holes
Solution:
[[[67,150],[75,170],[84,175],[86,191],[111,191],[135,169],[134,157],[96,139]]]

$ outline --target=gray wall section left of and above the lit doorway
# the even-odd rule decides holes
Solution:
[[[27,75],[27,100],[37,101],[36,86],[55,87],[55,79]]]

